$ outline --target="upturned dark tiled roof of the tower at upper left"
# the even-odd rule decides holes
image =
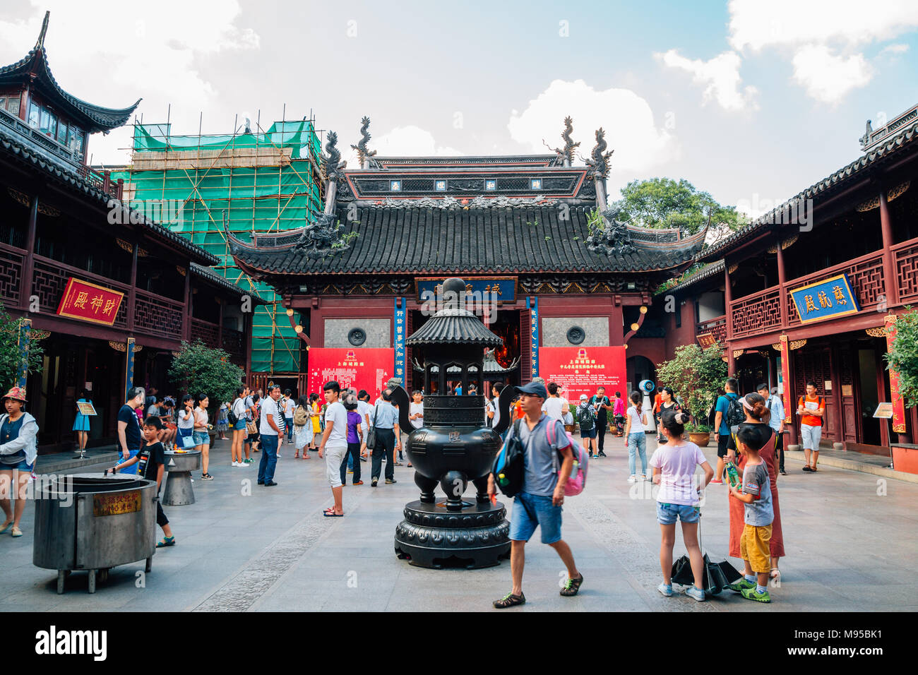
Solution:
[[[45,96],[53,99],[62,108],[68,117],[75,121],[81,122],[86,131],[93,133],[95,131],[105,131],[120,127],[130,118],[130,114],[140,105],[140,98],[133,106],[123,108],[111,108],[95,106],[87,103],[81,98],[65,92],[61,85],[54,79],[48,66],[48,55],[45,53],[44,46],[38,47],[28,52],[28,55],[6,66],[0,66],[0,85],[8,83],[21,83],[24,79],[35,73],[36,78],[33,86],[38,85],[39,91]]]

